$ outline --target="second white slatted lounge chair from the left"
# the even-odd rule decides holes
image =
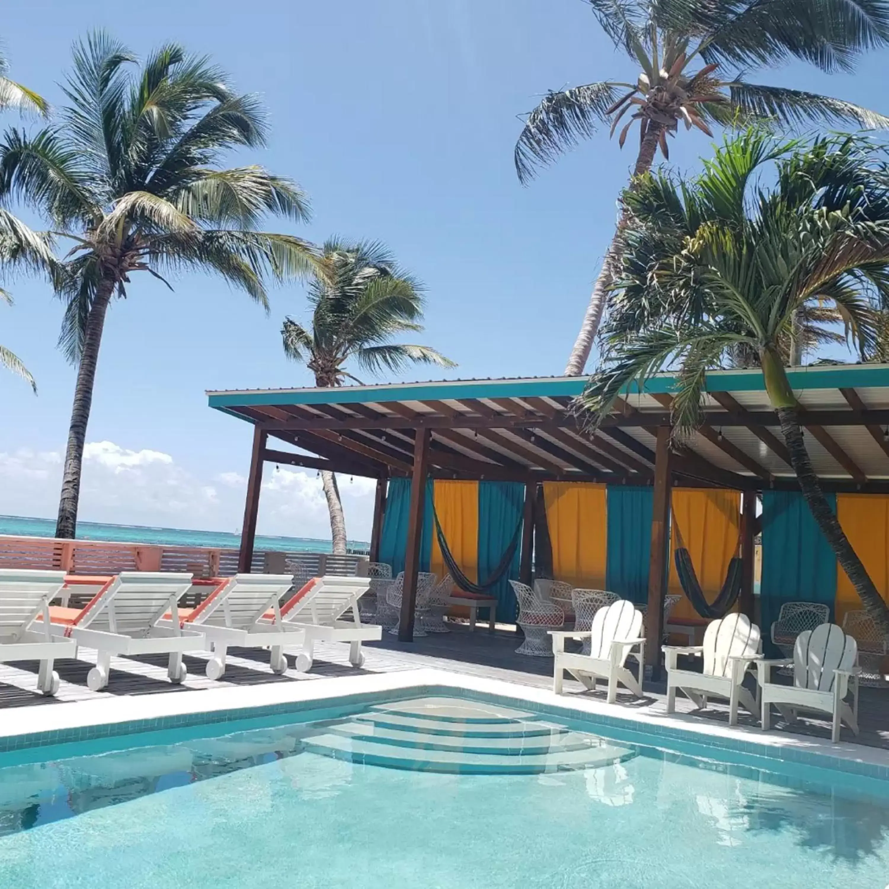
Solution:
[[[86,676],[93,692],[108,685],[112,655],[168,653],[167,676],[178,684],[187,675],[182,653],[201,650],[205,644],[200,633],[180,627],[177,604],[190,586],[191,574],[124,571],[111,578],[73,621],[52,622],[52,632],[98,651],[96,666]],[[172,621],[164,620],[167,612]]]

